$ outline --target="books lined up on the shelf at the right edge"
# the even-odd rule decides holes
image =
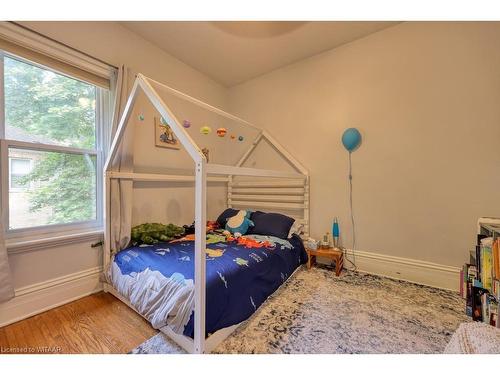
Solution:
[[[460,272],[460,294],[466,300],[465,311],[475,321],[497,325],[500,301],[500,241],[478,236],[471,260]]]

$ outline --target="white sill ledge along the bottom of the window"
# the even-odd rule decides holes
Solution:
[[[6,241],[8,254],[19,254],[50,247],[59,247],[75,243],[102,241],[103,230],[94,229],[80,232],[71,232],[50,237],[16,238]]]

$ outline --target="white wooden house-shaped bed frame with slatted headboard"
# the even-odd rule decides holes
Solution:
[[[120,172],[113,170],[113,160],[120,152],[120,144],[125,129],[129,123],[132,109],[142,90],[148,100],[153,104],[160,115],[170,124],[177,139],[186,149],[194,161],[194,176],[174,174],[149,174]],[[236,165],[221,165],[207,163],[200,147],[189,136],[174,113],[169,109],[157,90],[165,90],[169,94],[187,100],[208,111],[221,115],[239,124],[250,126],[259,131],[250,148],[243,154]],[[283,172],[266,169],[242,167],[255,147],[261,140],[267,140],[278,154],[281,154],[296,172]],[[265,177],[265,181],[235,181],[235,176]],[[104,269],[112,259],[110,249],[110,181],[112,179],[126,179],[132,181],[175,181],[194,182],[195,185],[195,302],[194,302],[194,339],[174,333],[168,326],[161,329],[171,339],[178,343],[189,353],[208,353],[213,350],[237,327],[231,326],[221,329],[205,338],[205,245],[206,245],[206,208],[207,208],[207,180],[227,182],[227,206],[235,208],[269,208],[275,210],[295,210],[301,212],[301,217],[296,220],[304,224],[304,234],[309,233],[309,173],[308,171],[265,130],[239,119],[231,114],[221,111],[186,94],[174,90],[166,85],[151,80],[142,74],[136,76],[132,91],[128,97],[124,112],[120,119],[111,150],[104,167],[104,197],[105,197],[105,235],[104,235]],[[112,285],[104,283],[104,290],[112,293],[128,306],[130,303],[115,290]],[[135,309],[134,309],[135,310]]]

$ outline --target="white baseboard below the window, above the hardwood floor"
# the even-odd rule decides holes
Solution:
[[[13,299],[0,304],[0,327],[101,291],[101,272],[94,267],[16,289]]]

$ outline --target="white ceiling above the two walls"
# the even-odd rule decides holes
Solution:
[[[224,86],[234,86],[397,22],[121,22]]]

